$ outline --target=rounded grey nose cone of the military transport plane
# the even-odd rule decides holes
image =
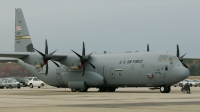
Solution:
[[[190,75],[189,70],[182,66],[177,67],[175,72],[176,72],[175,79],[177,79],[177,81],[182,81],[182,80],[188,78],[188,76]]]

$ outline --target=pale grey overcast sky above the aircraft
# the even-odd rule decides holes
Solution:
[[[1,0],[0,52],[14,51],[15,8],[44,52],[169,51],[200,57],[200,0]]]

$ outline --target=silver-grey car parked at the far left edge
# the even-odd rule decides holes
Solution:
[[[6,78],[1,81],[1,84],[4,85],[7,89],[18,88],[20,89],[21,85],[16,79]]]

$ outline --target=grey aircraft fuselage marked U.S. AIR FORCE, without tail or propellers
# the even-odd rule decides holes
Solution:
[[[36,63],[42,60],[37,53],[32,54],[34,58],[30,55],[24,61]],[[173,85],[189,76],[188,69],[168,52],[93,54],[90,62],[96,69],[86,64],[83,77],[82,68],[70,68],[80,63],[79,58],[74,54],[66,55],[67,58],[59,61],[63,64],[60,67],[49,61],[47,75],[44,74],[45,67],[36,68],[22,61],[19,64],[45,83],[56,87],[68,87],[69,81],[84,81],[88,87],[159,87]]]

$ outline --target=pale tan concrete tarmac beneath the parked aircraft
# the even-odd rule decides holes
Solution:
[[[70,92],[65,88],[0,89],[0,112],[199,112],[200,87],[192,94],[172,87],[170,93],[149,88],[118,88],[116,92]]]

